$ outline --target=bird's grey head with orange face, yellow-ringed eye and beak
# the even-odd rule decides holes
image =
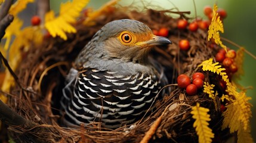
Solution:
[[[140,21],[115,20],[95,33],[78,55],[76,64],[113,59],[143,63],[152,46],[169,43],[169,39],[153,35],[152,30]]]

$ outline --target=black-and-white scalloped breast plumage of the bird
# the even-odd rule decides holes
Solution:
[[[74,82],[73,88],[70,84],[63,90],[66,122],[102,122],[106,128],[135,122],[150,108],[161,88],[157,74],[143,72],[123,76],[107,70],[84,69]]]

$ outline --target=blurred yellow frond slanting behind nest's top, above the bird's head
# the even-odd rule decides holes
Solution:
[[[118,1],[120,0],[109,1],[107,2],[107,4],[103,5],[103,7],[99,8],[98,10],[93,11],[92,13],[88,13],[88,17],[86,18],[83,24],[85,24],[86,26],[91,26],[92,24],[94,24],[92,21],[95,20],[95,18],[106,13],[109,7],[113,7],[113,5],[116,5]]]

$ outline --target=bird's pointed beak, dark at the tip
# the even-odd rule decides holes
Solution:
[[[146,41],[145,43],[149,46],[163,46],[172,44],[172,42],[168,38],[156,35],[154,35],[151,40]]]

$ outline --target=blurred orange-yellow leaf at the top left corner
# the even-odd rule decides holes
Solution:
[[[20,11],[23,11],[29,2],[34,2],[34,0],[18,0],[10,8],[9,13],[16,16]]]

